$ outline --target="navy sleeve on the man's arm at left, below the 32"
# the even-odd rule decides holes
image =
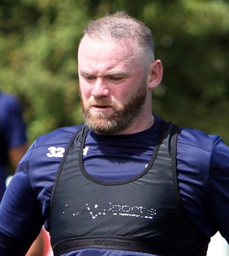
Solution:
[[[29,159],[30,150],[24,160]],[[35,240],[43,225],[41,205],[30,183],[29,167],[28,161],[18,165],[0,205],[0,233],[12,240],[27,241],[28,244]],[[1,246],[4,247],[3,244]]]

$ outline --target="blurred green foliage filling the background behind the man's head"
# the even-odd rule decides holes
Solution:
[[[0,0],[0,89],[24,105],[28,137],[82,122],[77,45],[83,28],[125,10],[154,34],[164,66],[154,112],[229,142],[226,0]]]

